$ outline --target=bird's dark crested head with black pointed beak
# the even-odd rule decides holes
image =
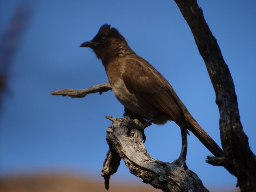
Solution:
[[[103,61],[113,56],[121,45],[127,45],[124,37],[116,28],[111,28],[110,25],[104,24],[91,41],[82,43],[80,47],[92,48],[96,56]]]

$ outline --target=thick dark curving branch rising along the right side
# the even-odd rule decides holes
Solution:
[[[256,190],[256,157],[240,122],[234,83],[217,40],[210,31],[196,0],[175,0],[193,33],[204,59],[219,107],[219,126],[225,159],[210,158],[209,163],[224,166],[236,175],[241,192]]]

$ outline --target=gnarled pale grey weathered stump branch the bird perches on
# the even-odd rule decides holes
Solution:
[[[187,153],[186,129],[181,129],[182,150],[180,157],[172,163],[166,163],[150,157],[143,145],[141,132],[138,129],[129,131],[128,125],[131,123],[141,126],[137,119],[132,121],[129,117],[118,119],[108,116],[107,118],[113,121],[113,124],[107,129],[106,140],[109,151],[102,169],[102,177],[105,178],[107,189],[109,177],[117,171],[122,158],[130,173],[140,177],[144,183],[149,183],[154,188],[160,188],[165,192],[208,192],[202,181],[193,171],[189,170],[185,163]],[[116,160],[114,160],[113,154]]]

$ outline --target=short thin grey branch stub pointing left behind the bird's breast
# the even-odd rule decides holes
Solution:
[[[102,94],[103,92],[109,91],[111,90],[111,86],[109,84],[109,82],[107,83],[103,83],[103,84],[99,84],[99,85],[94,85],[91,86],[89,88],[85,88],[85,89],[79,89],[79,90],[74,90],[74,89],[63,89],[63,90],[57,90],[57,91],[52,91],[51,94],[52,95],[62,95],[62,96],[69,96],[69,97],[85,97],[87,94],[89,93],[97,93],[99,92],[100,94]]]

